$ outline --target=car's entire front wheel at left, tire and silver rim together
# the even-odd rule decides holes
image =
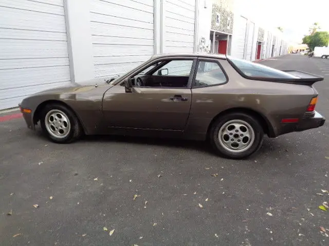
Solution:
[[[40,122],[43,133],[58,144],[67,144],[82,135],[77,115],[61,104],[46,105],[42,109]]]

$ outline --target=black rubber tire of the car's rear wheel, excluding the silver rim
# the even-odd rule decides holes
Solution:
[[[237,121],[241,121],[241,122],[245,121],[252,128],[253,133],[254,133],[253,134],[254,140],[253,140],[252,144],[251,144],[251,140],[250,140],[250,145],[246,150],[241,150],[241,152],[234,152],[235,150],[228,150],[227,148],[222,146],[221,141],[218,137],[218,133],[221,130],[222,126],[224,126],[225,124],[227,124],[227,122],[229,122],[231,120],[237,120]],[[237,135],[239,135],[239,134],[237,134]],[[209,139],[210,139],[211,145],[213,146],[216,153],[220,156],[224,156],[224,157],[232,158],[232,159],[244,159],[244,158],[249,157],[256,151],[258,151],[260,149],[260,147],[262,146],[263,135],[264,135],[264,130],[257,119],[255,119],[254,117],[252,117],[246,113],[238,113],[238,112],[225,114],[222,117],[216,119],[213,122],[213,124],[210,128],[210,131],[209,131]],[[231,138],[231,137],[229,137],[229,138]],[[233,139],[233,137],[232,137],[232,139]],[[222,140],[222,143],[223,143],[223,140]],[[229,143],[229,141],[227,141],[227,143],[229,145],[231,145]],[[237,144],[237,145],[239,145],[239,144]]]

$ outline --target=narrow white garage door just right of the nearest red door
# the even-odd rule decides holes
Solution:
[[[236,31],[233,38],[235,39],[234,46],[232,47],[232,55],[236,58],[243,59],[246,39],[247,19],[239,16],[237,17]]]

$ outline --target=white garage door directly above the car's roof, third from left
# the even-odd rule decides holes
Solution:
[[[167,0],[165,10],[165,53],[192,53],[195,0]]]

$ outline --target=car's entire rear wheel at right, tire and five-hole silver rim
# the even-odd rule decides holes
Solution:
[[[254,117],[245,113],[229,113],[213,122],[209,134],[218,155],[243,159],[261,147],[264,131]]]

